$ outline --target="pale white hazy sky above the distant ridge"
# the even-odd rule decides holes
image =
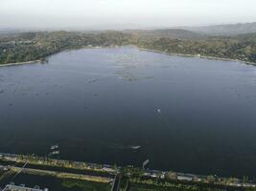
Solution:
[[[1,28],[138,28],[256,21],[256,0],[0,0]]]

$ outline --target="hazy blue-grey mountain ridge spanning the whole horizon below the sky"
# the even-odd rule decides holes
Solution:
[[[106,31],[117,31],[117,32],[128,32],[137,35],[144,35],[147,37],[154,38],[168,37],[172,39],[198,39],[207,35],[236,35],[244,33],[255,33],[256,22],[253,23],[238,23],[238,24],[226,24],[226,25],[209,25],[209,26],[198,26],[198,27],[161,27],[161,28],[146,28],[136,25],[124,25],[124,26],[101,26],[91,27],[91,29],[1,29],[0,34],[15,33],[15,32],[40,32],[40,31],[69,31],[69,32],[106,32]],[[127,27],[127,30],[126,30]]]

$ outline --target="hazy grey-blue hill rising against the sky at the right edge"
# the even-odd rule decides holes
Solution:
[[[185,27],[183,29],[211,35],[234,35],[256,32],[256,22],[244,24],[238,23],[229,25],[213,25],[204,27]]]

